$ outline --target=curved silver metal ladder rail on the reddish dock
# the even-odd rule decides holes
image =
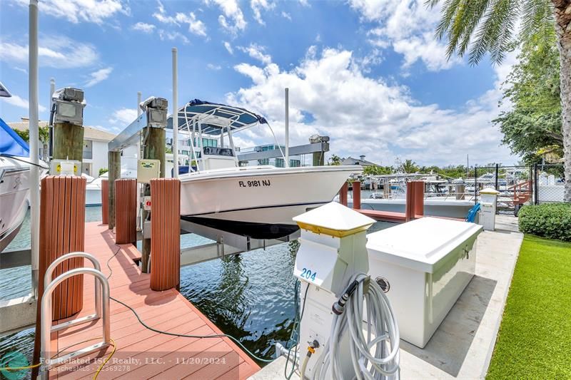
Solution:
[[[53,281],[51,281],[51,274],[54,273],[56,267],[66,260],[84,257],[90,260],[94,268],[76,268],[71,269],[68,272],[60,274]],[[74,319],[73,321],[64,322],[61,324],[56,324],[51,326],[51,313],[52,313],[52,299],[51,295],[54,289],[61,284],[65,279],[69,277],[76,276],[77,274],[91,274],[95,277],[95,314],[87,315],[86,317],[81,317]],[[98,349],[102,349],[109,345],[111,342],[111,327],[109,325],[109,283],[107,277],[101,273],[101,267],[96,258],[86,252],[71,252],[57,258],[51,265],[46,269],[46,274],[44,275],[44,296],[41,299],[41,364],[45,366],[44,368],[49,369],[51,365],[57,365],[64,363],[65,361],[76,358],[79,356],[84,356]],[[91,346],[86,346],[82,349],[70,352],[64,356],[59,356],[55,359],[51,359],[51,333],[57,332],[61,329],[67,329],[69,327],[77,326],[79,324],[84,324],[86,322],[91,322],[96,319],[103,318],[103,340],[97,344],[92,344]],[[42,373],[42,378],[47,378],[49,370]]]

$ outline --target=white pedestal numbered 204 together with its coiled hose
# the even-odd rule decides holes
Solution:
[[[301,230],[293,274],[301,281],[302,379],[397,378],[398,327],[367,274],[366,231],[375,220],[337,202],[293,220]]]

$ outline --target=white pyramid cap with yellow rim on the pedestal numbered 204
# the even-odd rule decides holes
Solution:
[[[375,220],[338,202],[330,202],[293,218],[303,230],[344,237],[365,231]]]

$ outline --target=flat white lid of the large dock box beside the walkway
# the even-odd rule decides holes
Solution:
[[[370,259],[433,273],[449,252],[482,231],[481,225],[423,217],[367,235]]]

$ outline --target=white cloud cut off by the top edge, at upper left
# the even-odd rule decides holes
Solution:
[[[28,7],[27,0],[17,0],[22,6]],[[92,22],[103,24],[116,14],[130,14],[128,4],[120,0],[41,0],[41,14],[49,14],[60,19],[66,19],[73,24]]]

